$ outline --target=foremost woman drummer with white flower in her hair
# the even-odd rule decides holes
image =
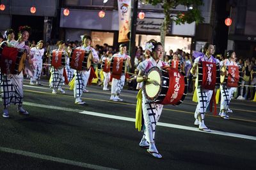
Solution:
[[[154,39],[151,39],[146,43],[145,51],[149,54],[149,60],[145,60],[140,62],[138,66],[139,76],[137,78],[138,83],[145,83],[148,81],[150,83],[156,83],[154,80],[150,80],[145,76],[145,73],[154,66],[162,67],[164,63],[161,61],[163,58],[164,49],[163,45]],[[145,97],[145,92],[142,91],[142,110],[143,110],[143,118],[145,122],[145,131],[143,137],[140,141],[140,146],[143,148],[148,148],[147,152],[150,155],[161,158],[161,154],[158,152],[155,145],[155,132],[156,132],[156,124],[161,116],[163,105],[156,104]]]

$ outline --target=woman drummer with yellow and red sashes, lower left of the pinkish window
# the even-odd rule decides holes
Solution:
[[[96,50],[94,48],[92,48],[92,46],[90,46],[92,43],[91,36],[84,34],[82,41],[83,41],[83,46],[79,46],[79,47],[77,47],[77,49],[84,50],[86,52],[92,52],[92,55],[93,55],[92,61],[95,63],[99,62],[99,56],[98,56]],[[86,71],[86,70],[84,70],[84,71],[75,70],[74,71],[74,75],[75,75],[75,77],[74,77],[75,78],[74,97],[76,99],[76,101],[75,101],[76,104],[81,104],[81,105],[85,104],[85,102],[81,99],[81,97],[82,97],[84,90],[86,90],[85,87],[88,83],[90,71],[91,71],[91,68],[88,71]]]

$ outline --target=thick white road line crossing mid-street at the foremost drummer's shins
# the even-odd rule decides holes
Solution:
[[[115,115],[109,115],[105,113],[97,113],[93,111],[83,111],[83,110],[76,110],[76,109],[71,109],[71,108],[63,108],[63,107],[58,107],[58,106],[51,106],[51,105],[46,105],[46,104],[37,104],[37,103],[29,103],[29,102],[24,102],[23,104],[28,105],[28,106],[35,106],[39,108],[47,108],[47,109],[52,109],[52,110],[61,110],[61,111],[72,111],[72,112],[78,112],[84,115],[91,115],[93,117],[104,117],[104,118],[112,118],[116,120],[124,120],[128,122],[135,122],[135,118],[129,118],[129,117],[120,117],[120,116],[115,116]],[[163,126],[163,127],[170,127],[170,128],[175,128],[175,129],[182,129],[186,131],[195,131],[195,132],[204,132],[200,131],[196,127],[189,127],[189,126],[184,126],[184,125],[176,125],[176,124],[166,124],[166,123],[161,123],[158,122],[157,125]],[[234,137],[234,138],[243,138],[243,139],[251,139],[251,140],[256,140],[256,136],[248,136],[244,134],[235,134],[235,133],[230,133],[230,132],[222,132],[222,131],[213,131],[211,132],[206,132],[208,134],[218,134],[221,136],[229,136],[229,137]]]

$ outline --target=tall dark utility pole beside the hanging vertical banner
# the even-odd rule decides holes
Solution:
[[[130,42],[129,42],[129,55],[131,56],[132,71],[134,71],[134,59],[136,55],[135,39],[136,39],[137,13],[138,13],[138,0],[134,0],[133,9],[132,9]]]

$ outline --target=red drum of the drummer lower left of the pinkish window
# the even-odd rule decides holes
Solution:
[[[77,71],[88,71],[92,64],[92,52],[73,49],[71,52],[70,67]]]

